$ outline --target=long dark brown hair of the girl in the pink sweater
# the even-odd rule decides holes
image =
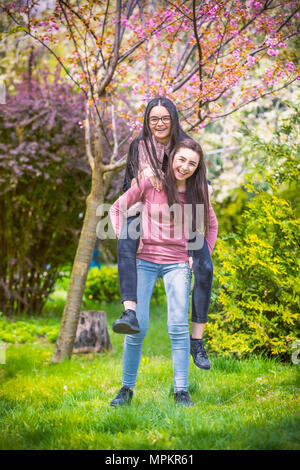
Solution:
[[[168,170],[164,178],[164,188],[168,198],[169,207],[179,202],[176,178],[173,170],[175,154],[180,149],[190,149],[199,155],[199,163],[195,172],[186,180],[186,203],[192,206],[192,230],[196,231],[196,205],[204,205],[204,231],[209,230],[209,197],[206,180],[206,167],[201,145],[195,140],[187,138],[178,142],[170,154]]]

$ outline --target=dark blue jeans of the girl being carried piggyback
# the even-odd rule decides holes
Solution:
[[[128,217],[124,222],[118,240],[118,274],[121,302],[124,302],[124,300],[137,302],[136,252],[139,246],[139,238],[134,239],[130,236],[130,223],[135,219],[136,216]],[[138,226],[137,230],[139,230]],[[193,271],[192,321],[206,323],[211,298],[213,265],[205,238],[202,248],[193,250]]]

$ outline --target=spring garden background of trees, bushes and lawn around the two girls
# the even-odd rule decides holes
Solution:
[[[0,10],[1,448],[299,449],[297,2]],[[191,361],[195,406],[176,408],[158,283],[134,400],[111,409],[121,304],[97,207],[121,193],[158,94],[201,143],[213,187],[212,367]],[[106,312],[112,348],[72,354],[81,310]]]

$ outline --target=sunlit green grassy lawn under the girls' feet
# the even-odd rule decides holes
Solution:
[[[63,299],[55,302],[27,323],[59,325]],[[54,343],[44,337],[8,345],[0,364],[1,449],[300,448],[300,374],[292,363],[210,356],[204,371],[191,359],[195,406],[175,406],[165,306],[152,308],[131,406],[111,408],[121,386],[123,336],[111,331],[120,304],[100,308],[108,312],[112,352],[50,365]]]

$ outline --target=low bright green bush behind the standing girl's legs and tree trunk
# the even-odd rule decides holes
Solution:
[[[89,271],[85,285],[84,295],[87,299],[98,302],[113,302],[121,298],[119,289],[118,269],[108,266],[92,268]],[[164,302],[166,298],[162,279],[155,285],[152,301],[155,303]]]

